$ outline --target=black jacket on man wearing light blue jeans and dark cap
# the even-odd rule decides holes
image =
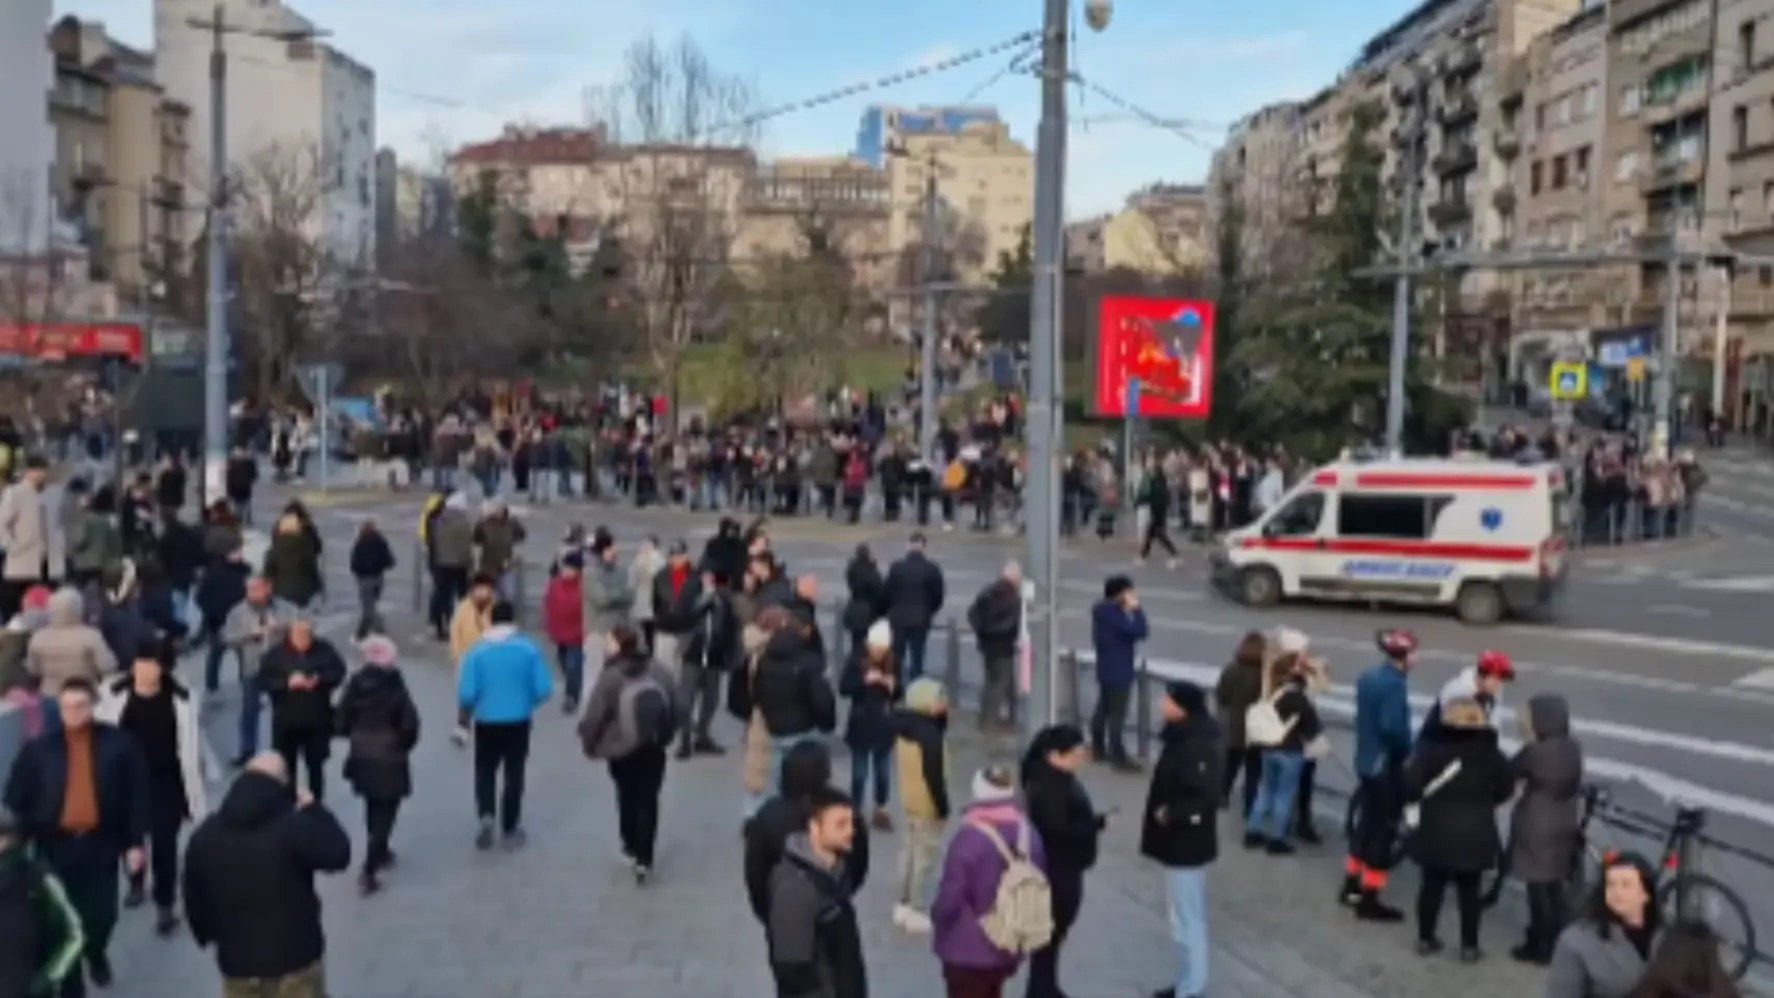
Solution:
[[[1190,716],[1164,725],[1151,769],[1139,853],[1166,867],[1205,867],[1219,858],[1221,773],[1226,752],[1219,721]]]

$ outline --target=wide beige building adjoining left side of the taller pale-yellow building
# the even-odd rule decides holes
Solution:
[[[887,172],[855,156],[777,160],[745,179],[733,255],[742,264],[807,252],[807,227],[821,227],[855,268],[857,284],[885,289],[896,255],[887,239],[892,186]]]

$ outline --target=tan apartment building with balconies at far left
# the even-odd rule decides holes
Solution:
[[[51,190],[60,220],[87,246],[90,277],[126,289],[174,280],[200,227],[184,188],[190,110],[161,92],[151,55],[101,23],[62,18],[48,50]]]

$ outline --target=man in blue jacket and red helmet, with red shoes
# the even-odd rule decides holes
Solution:
[[[1405,807],[1403,768],[1410,755],[1410,667],[1417,638],[1380,631],[1375,642],[1385,661],[1355,681],[1355,776],[1361,812],[1343,869],[1339,899],[1368,922],[1398,922],[1403,913],[1380,901],[1393,869],[1398,823]]]

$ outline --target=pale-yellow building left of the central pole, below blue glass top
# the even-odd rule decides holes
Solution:
[[[967,245],[958,259],[963,280],[988,273],[999,253],[1017,250],[1034,222],[1034,156],[999,121],[970,122],[956,133],[910,133],[901,154],[887,158],[892,214],[889,246],[919,241],[924,225],[924,184],[935,175],[937,199],[956,220]]]

